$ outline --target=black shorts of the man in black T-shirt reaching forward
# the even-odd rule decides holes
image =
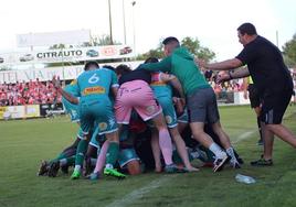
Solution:
[[[284,113],[290,101],[292,90],[283,90],[263,96],[261,121],[265,124],[279,124],[282,123]]]

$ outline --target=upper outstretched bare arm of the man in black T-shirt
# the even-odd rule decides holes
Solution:
[[[211,70],[230,70],[233,68],[241,67],[243,63],[239,58],[232,58],[219,63],[208,64],[203,59],[197,61],[200,67]]]

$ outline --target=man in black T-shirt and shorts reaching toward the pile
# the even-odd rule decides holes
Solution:
[[[252,165],[272,165],[274,134],[296,148],[296,137],[282,124],[282,119],[293,92],[293,81],[284,64],[281,51],[266,39],[257,35],[251,23],[244,23],[237,29],[240,43],[244,48],[232,59],[214,64],[199,61],[199,65],[212,70],[229,70],[221,73],[219,80],[229,80],[252,76],[261,98],[261,121],[264,137],[264,155]],[[235,69],[247,65],[242,69]]]

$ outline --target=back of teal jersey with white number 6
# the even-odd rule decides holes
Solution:
[[[93,98],[108,98],[110,87],[117,85],[117,77],[110,69],[98,68],[80,75],[77,85],[81,101]]]

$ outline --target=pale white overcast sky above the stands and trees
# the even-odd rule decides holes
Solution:
[[[279,48],[296,33],[295,0],[133,1],[110,0],[112,25],[113,39],[124,43],[125,13],[127,44],[135,43],[136,53],[156,48],[166,36],[191,36],[223,61],[242,50],[236,29],[244,22]],[[2,1],[0,19],[0,52],[18,51],[17,34],[81,29],[93,36],[109,34],[108,0]]]

